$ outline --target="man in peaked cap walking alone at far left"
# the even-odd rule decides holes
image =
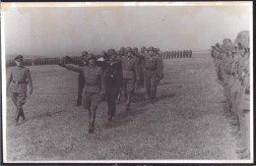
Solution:
[[[23,65],[23,56],[18,55],[15,59],[16,68],[13,68],[7,82],[7,94],[10,87],[12,100],[16,106],[16,125],[19,123],[20,117],[22,121],[25,122],[25,114],[23,110],[23,105],[27,101],[27,84],[29,83],[30,90],[29,94],[32,94],[32,77],[29,68]],[[10,85],[11,84],[11,85]]]

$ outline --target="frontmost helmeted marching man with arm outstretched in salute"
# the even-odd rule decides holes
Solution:
[[[86,82],[83,90],[83,106],[89,111],[89,134],[93,134],[96,123],[96,109],[100,101],[104,98],[105,83],[102,70],[96,67],[96,56],[89,54],[87,61],[88,66],[84,67],[63,63],[59,63],[59,66],[84,74]]]

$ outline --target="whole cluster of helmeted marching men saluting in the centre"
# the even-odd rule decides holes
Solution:
[[[108,121],[113,120],[121,94],[125,97],[125,110],[131,111],[136,87],[144,87],[146,96],[155,103],[157,86],[163,78],[161,55],[160,49],[153,46],[143,46],[141,50],[121,47],[118,51],[102,51],[101,55],[84,51],[80,61],[66,56],[59,62],[59,66],[79,73],[77,106],[83,105],[89,112],[90,134],[94,133],[96,109],[103,100],[108,106]]]

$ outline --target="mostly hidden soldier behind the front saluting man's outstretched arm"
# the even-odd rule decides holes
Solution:
[[[66,56],[66,61],[68,63],[78,65],[79,67],[84,67],[87,66],[87,57],[88,57],[88,52],[83,51],[82,52],[82,58],[79,61],[75,61],[69,56]],[[83,88],[85,86],[85,77],[83,73],[79,73],[78,76],[78,98],[77,98],[77,105],[76,106],[81,106],[82,104],[82,93],[83,93]]]

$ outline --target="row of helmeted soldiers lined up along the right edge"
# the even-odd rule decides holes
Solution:
[[[235,116],[234,133],[243,138],[245,148],[239,152],[248,153],[250,149],[250,45],[249,31],[240,31],[234,40],[225,38],[223,44],[212,46],[218,79],[224,86],[224,94],[229,111]],[[231,113],[230,112],[230,113]],[[238,128],[237,128],[238,127]],[[247,147],[247,149],[246,149]]]

